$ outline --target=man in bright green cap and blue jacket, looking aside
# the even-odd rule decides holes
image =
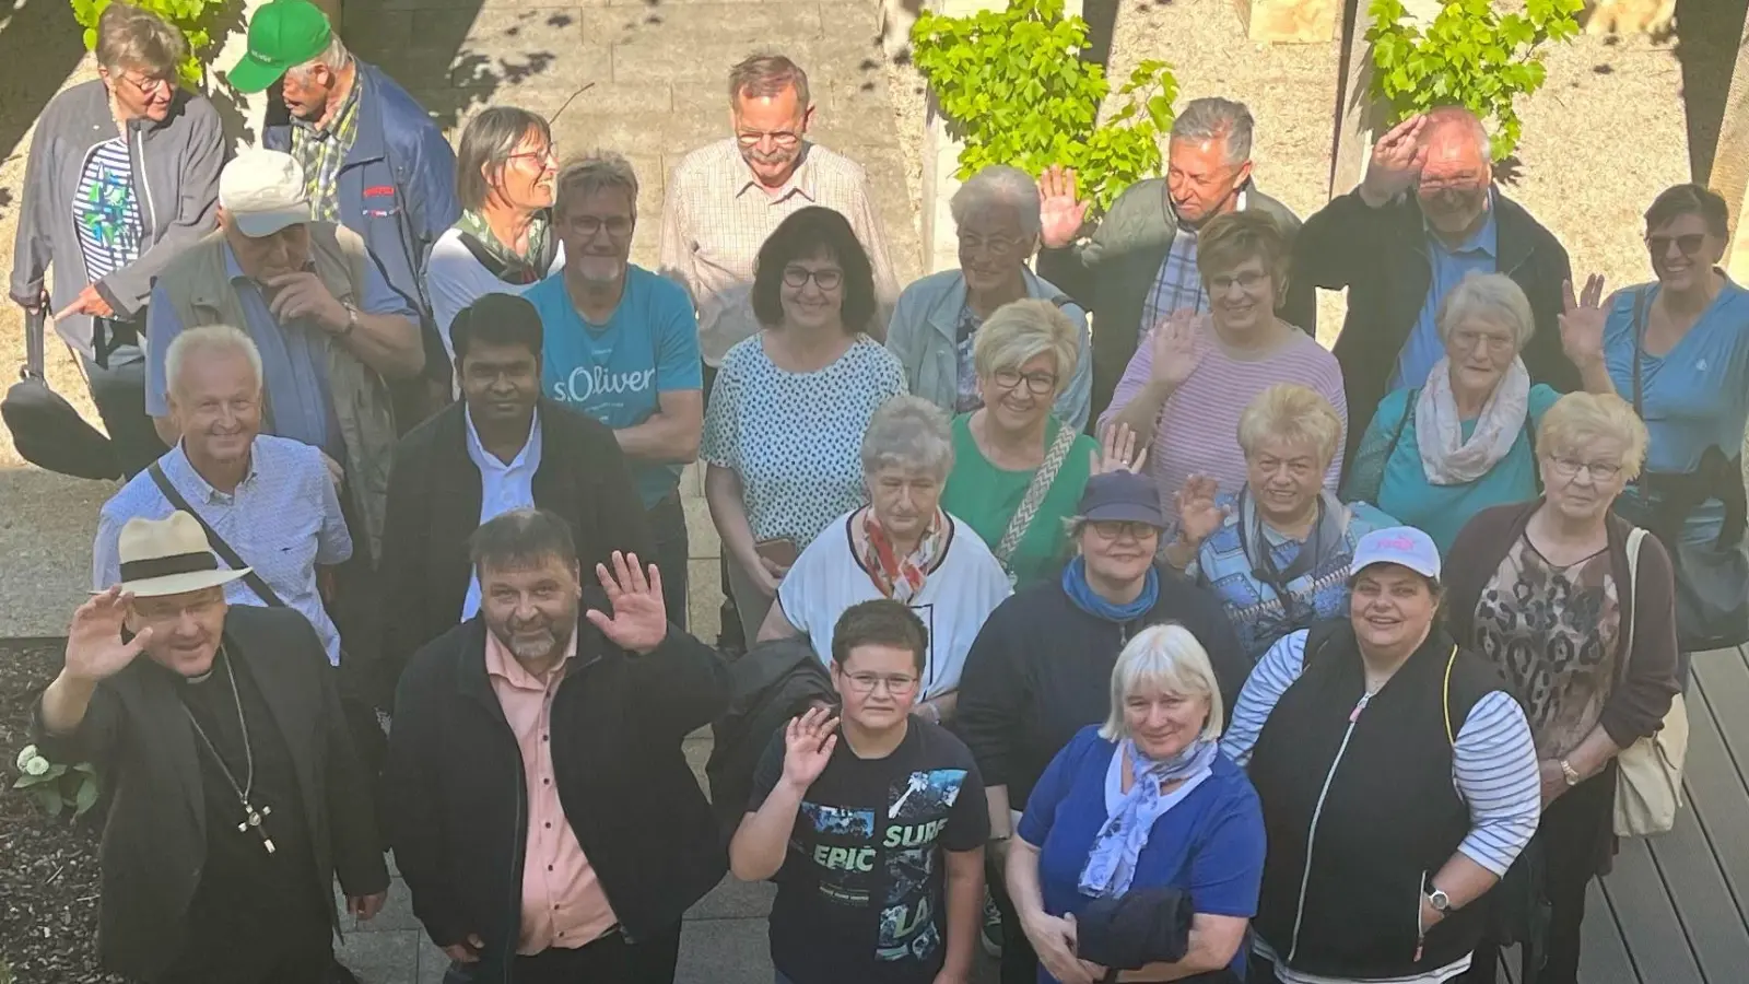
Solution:
[[[262,147],[304,170],[313,217],[364,236],[371,261],[402,303],[420,313],[425,375],[448,403],[449,364],[432,322],[420,270],[455,224],[455,152],[425,109],[374,65],[355,58],[310,0],[262,4],[248,21],[248,53],[226,79],[240,93],[278,86],[289,124],[271,124]],[[425,417],[423,387],[399,387],[406,425]]]

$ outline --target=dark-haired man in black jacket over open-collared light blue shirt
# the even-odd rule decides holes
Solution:
[[[540,399],[540,315],[526,298],[486,294],[462,308],[449,322],[462,401],[395,446],[380,567],[385,707],[413,653],[479,613],[481,585],[467,560],[479,524],[511,510],[549,510],[570,529],[591,581],[616,550],[651,552],[614,434]]]

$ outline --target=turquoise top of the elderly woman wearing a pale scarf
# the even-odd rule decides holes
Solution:
[[[1548,413],[1560,394],[1544,383],[1530,387],[1530,420],[1520,431],[1513,450],[1506,452],[1487,474],[1464,485],[1432,485],[1420,464],[1420,446],[1415,443],[1415,413],[1410,408],[1408,418],[1403,415],[1404,403],[1411,390],[1399,389],[1378,401],[1378,413],[1373,417],[1375,427],[1396,427],[1403,420],[1403,436],[1397,438],[1396,450],[1385,460],[1385,480],[1378,487],[1378,503],[1373,503],[1387,515],[1396,517],[1404,525],[1420,529],[1432,538],[1439,553],[1445,555],[1457,539],[1457,531],[1471,517],[1490,506],[1506,503],[1523,503],[1537,496],[1537,467],[1532,450],[1530,431]],[[1415,390],[1420,396],[1418,390]],[[1464,420],[1464,438],[1474,432],[1476,422]]]

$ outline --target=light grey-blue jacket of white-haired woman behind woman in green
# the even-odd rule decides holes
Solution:
[[[1093,394],[1093,352],[1088,341],[1088,313],[1055,284],[1027,270],[1027,296],[1055,301],[1069,320],[1081,329],[1076,371],[1069,385],[1056,396],[1056,418],[1076,431],[1088,425],[1088,404]],[[965,275],[943,270],[916,280],[899,294],[887,326],[887,348],[904,364],[911,394],[953,413],[958,403],[958,327],[960,308],[965,306]]]

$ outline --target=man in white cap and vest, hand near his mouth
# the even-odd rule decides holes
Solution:
[[[145,410],[164,443],[164,354],[187,327],[229,324],[261,350],[264,432],[338,462],[353,539],[376,557],[397,438],[385,380],[425,364],[418,313],[392,291],[357,233],[311,219],[303,166],[243,151],[219,175],[219,231],[177,257],[152,289]]]

